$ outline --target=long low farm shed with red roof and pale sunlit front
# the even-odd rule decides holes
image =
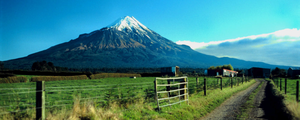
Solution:
[[[212,70],[207,70],[207,76],[235,76],[238,72],[237,71],[232,71],[232,70],[227,70],[227,69],[212,69]]]

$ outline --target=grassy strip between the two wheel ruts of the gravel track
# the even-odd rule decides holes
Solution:
[[[259,84],[259,86],[249,95],[249,97],[247,98],[247,101],[241,106],[240,111],[241,113],[237,116],[238,119],[240,120],[245,120],[247,118],[249,118],[249,113],[251,112],[252,108],[254,107],[254,98],[257,95],[257,93],[259,92],[259,90],[261,89],[262,86],[261,82]]]

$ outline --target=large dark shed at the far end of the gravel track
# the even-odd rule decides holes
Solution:
[[[271,69],[252,67],[248,69],[248,76],[253,76],[254,78],[268,78],[271,74]]]

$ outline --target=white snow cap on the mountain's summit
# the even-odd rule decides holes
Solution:
[[[107,28],[116,28],[119,31],[122,31],[125,28],[127,28],[131,31],[133,31],[133,29],[141,30],[144,32],[145,32],[145,30],[149,31],[149,29],[146,26],[144,26],[142,23],[137,21],[137,19],[135,19],[133,16],[132,17],[129,17],[129,16],[121,17],[121,18],[117,19],[115,22],[113,22],[112,24],[108,25]]]

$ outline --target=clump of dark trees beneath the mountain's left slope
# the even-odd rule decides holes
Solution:
[[[68,71],[67,67],[58,67],[58,66],[54,66],[54,64],[52,62],[48,62],[47,61],[36,61],[32,64],[31,67],[32,71]]]

